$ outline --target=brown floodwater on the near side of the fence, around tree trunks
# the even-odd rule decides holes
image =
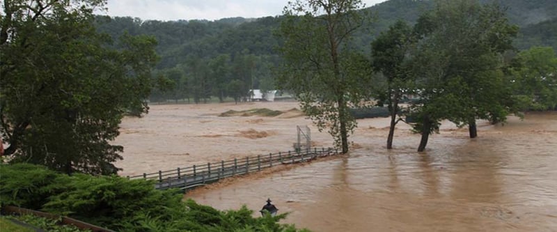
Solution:
[[[366,124],[367,123],[367,124]],[[312,231],[557,231],[557,114],[419,136],[360,123],[350,154],[185,195],[221,210],[267,198],[285,223]],[[386,124],[388,125],[388,124]],[[385,125],[385,126],[386,126]]]

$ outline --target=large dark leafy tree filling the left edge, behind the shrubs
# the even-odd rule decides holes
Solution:
[[[101,0],[3,1],[0,15],[0,125],[14,162],[72,173],[108,174],[122,157],[124,114],[148,110],[153,38],[95,31]]]

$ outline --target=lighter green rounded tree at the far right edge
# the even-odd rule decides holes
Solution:
[[[515,95],[524,102],[522,110],[557,109],[557,56],[552,47],[532,47],[518,54],[513,68]]]

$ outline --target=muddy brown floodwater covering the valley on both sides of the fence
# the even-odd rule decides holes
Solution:
[[[153,105],[126,118],[116,144],[125,146],[123,175],[288,150],[301,116],[231,117],[228,109],[287,111],[295,102],[243,105]],[[557,114],[510,117],[505,125],[466,128],[444,123],[416,153],[420,137],[406,125],[386,150],[389,120],[359,121],[350,154],[248,176],[186,194],[221,210],[267,198],[290,212],[285,223],[313,231],[557,231]],[[246,136],[255,130],[264,136]],[[317,146],[331,138],[312,127]],[[256,215],[256,214],[254,214]]]

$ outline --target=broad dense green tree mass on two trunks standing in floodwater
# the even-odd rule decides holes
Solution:
[[[512,49],[517,33],[505,9],[476,0],[439,0],[418,20],[416,30],[421,35],[416,57],[421,61],[414,72],[425,78],[423,107],[416,114],[423,120],[415,127],[422,133],[418,150],[425,149],[428,133],[434,131],[429,126],[441,119],[469,125],[471,138],[477,136],[477,118],[504,121],[512,104],[504,100],[510,92],[501,57]]]

